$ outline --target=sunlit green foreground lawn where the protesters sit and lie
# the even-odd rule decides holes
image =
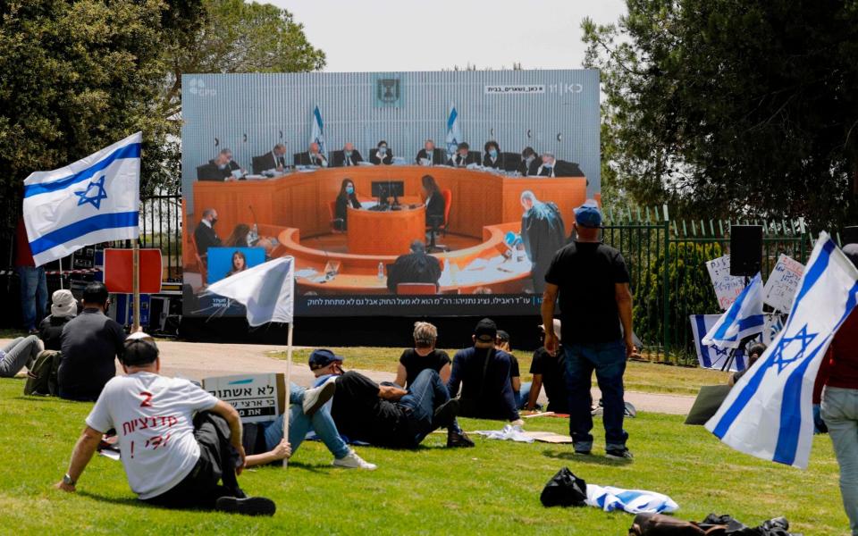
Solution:
[[[248,471],[250,494],[276,501],[273,518],[169,511],[138,503],[122,465],[97,456],[76,495],[53,490],[91,405],[25,398],[23,381],[0,380],[0,533],[4,534],[581,534],[625,535],[632,516],[592,507],[544,508],[543,485],[568,465],[587,482],[668,494],[677,516],[716,512],[759,523],[786,515],[806,535],[845,534],[837,463],[827,437],[814,440],[811,468],[800,471],[745,456],[682,417],[640,415],[627,422],[632,464],[573,457],[568,445],[475,438],[476,448],[443,448],[433,434],[416,451],[358,448],[375,472],[333,469],[320,443],[301,446],[287,470]],[[466,430],[501,423],[462,419]],[[597,420],[601,428],[601,421]],[[531,430],[564,431],[543,418]],[[598,430],[594,452],[602,452]]]

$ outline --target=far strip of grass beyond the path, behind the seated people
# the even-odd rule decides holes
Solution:
[[[395,373],[400,363],[401,348],[331,348],[336,354],[346,358],[346,369],[363,369]],[[292,354],[295,363],[307,364],[310,349],[298,349]],[[450,358],[456,350],[445,349]],[[530,381],[530,362],[532,352],[513,350],[518,359],[522,381]],[[274,356],[286,358],[285,352],[277,352]],[[669,364],[650,363],[646,361],[630,361],[625,375],[626,389],[651,393],[669,393],[677,395],[696,396],[702,385],[717,385],[727,381],[727,373],[708,369]]]

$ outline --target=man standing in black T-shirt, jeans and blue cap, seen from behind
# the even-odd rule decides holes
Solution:
[[[632,293],[623,256],[599,241],[601,212],[592,199],[575,210],[577,238],[554,255],[545,274],[543,325],[554,320],[559,295],[569,432],[577,454],[593,449],[590,379],[593,371],[604,402],[605,450],[610,458],[632,457],[623,430],[623,374],[635,351],[632,341]],[[620,322],[623,333],[620,333]],[[559,339],[545,331],[545,349],[557,355]]]

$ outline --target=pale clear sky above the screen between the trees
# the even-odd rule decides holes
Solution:
[[[584,61],[581,20],[618,20],[625,0],[267,0],[304,24],[327,54],[324,71],[574,69]]]

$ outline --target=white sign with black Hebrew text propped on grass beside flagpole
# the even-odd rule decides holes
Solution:
[[[282,373],[206,378],[203,389],[234,407],[242,423],[273,421],[286,408],[286,382]]]

